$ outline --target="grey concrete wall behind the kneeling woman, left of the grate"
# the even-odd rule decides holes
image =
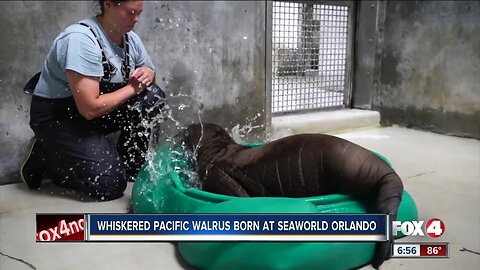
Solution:
[[[1,1],[0,184],[18,181],[32,131],[30,97],[21,91],[41,69],[54,38],[69,24],[93,16],[96,1]],[[157,66],[168,95],[193,94],[203,121],[232,128],[265,125],[265,2],[145,1],[135,31]],[[178,101],[173,102],[184,102]],[[178,104],[177,104],[178,105]],[[193,112],[193,111],[192,111]],[[198,121],[181,114],[181,123]]]

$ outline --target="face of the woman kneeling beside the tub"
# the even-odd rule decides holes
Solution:
[[[119,32],[127,33],[135,27],[143,11],[143,1],[122,1],[118,4],[105,3],[105,17],[111,20]]]

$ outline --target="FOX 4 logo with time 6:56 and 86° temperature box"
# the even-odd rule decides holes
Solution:
[[[445,233],[445,223],[439,218],[422,221],[392,221],[393,258],[448,258],[449,243],[440,242]],[[410,236],[415,242],[403,241]],[[408,239],[408,238],[406,238]]]

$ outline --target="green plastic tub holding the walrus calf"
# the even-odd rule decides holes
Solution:
[[[133,186],[135,213],[368,213],[372,206],[341,194],[238,198],[186,187],[189,177],[184,170],[191,162],[173,146],[158,148],[150,164],[144,165]],[[397,220],[417,219],[415,202],[405,191]],[[178,249],[199,269],[352,269],[369,264],[375,242],[179,242]]]

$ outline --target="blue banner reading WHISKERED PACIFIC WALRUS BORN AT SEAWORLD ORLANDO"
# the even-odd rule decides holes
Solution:
[[[291,236],[308,236],[308,239],[316,241],[335,241],[336,239],[386,241],[388,240],[387,222],[387,215],[380,214],[90,214],[87,224],[89,238],[95,239],[95,236],[102,236],[96,238],[98,240],[127,239],[122,238],[126,235],[169,236],[169,238],[143,238],[146,240],[254,240],[254,238],[238,237],[243,235],[267,236],[264,238],[266,241],[282,241],[281,236],[290,236],[287,241],[306,239]],[[172,238],[172,235],[182,235],[182,237]],[[195,235],[225,237],[188,237]],[[108,238],[108,236],[116,237]],[[339,236],[339,238],[327,236]],[[141,240],[135,237],[129,239]],[[261,238],[255,239],[261,240]]]

